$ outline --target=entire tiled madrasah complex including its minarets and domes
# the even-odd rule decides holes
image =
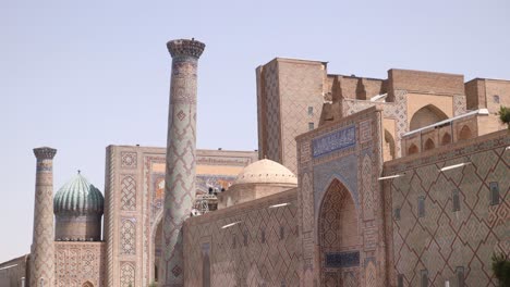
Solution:
[[[277,58],[256,68],[258,151],[196,150],[205,45],[167,46],[167,147],[107,147],[105,196],[82,174],[53,192],[57,150],[34,149],[31,253],[1,287],[496,285],[509,80]]]

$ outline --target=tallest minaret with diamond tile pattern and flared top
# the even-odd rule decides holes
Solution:
[[[161,286],[182,287],[182,224],[195,199],[196,70],[205,45],[194,39],[167,43],[172,55],[165,177]]]

